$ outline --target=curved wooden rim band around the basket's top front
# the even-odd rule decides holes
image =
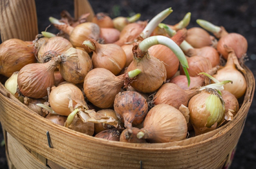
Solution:
[[[121,143],[107,141],[58,126],[0,87],[0,120],[22,145],[63,168],[219,168],[235,148],[255,91],[253,73],[245,68],[248,82],[244,102],[233,121],[183,141],[172,143]],[[48,147],[49,131],[53,148]]]

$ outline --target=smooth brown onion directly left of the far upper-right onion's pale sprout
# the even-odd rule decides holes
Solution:
[[[210,34],[203,28],[193,27],[188,29],[188,35],[185,38],[194,48],[202,48],[203,46],[211,46],[212,38]]]

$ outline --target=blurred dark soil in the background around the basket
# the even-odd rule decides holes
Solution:
[[[62,10],[68,10],[73,14],[73,1],[71,0],[35,0],[37,5],[37,17],[39,32],[45,30],[49,25],[48,17],[60,18]],[[228,32],[237,32],[244,35],[248,40],[248,58],[246,66],[256,74],[256,1],[255,0],[122,0],[122,1],[91,1],[91,6],[95,13],[106,12],[110,17],[117,16],[128,17],[132,14],[140,13],[140,20],[152,19],[158,12],[172,7],[174,10],[164,23],[178,23],[187,12],[192,13],[192,18],[188,28],[198,26],[196,19],[205,19],[217,26],[224,26]],[[49,32],[57,32],[53,27]],[[256,103],[255,99],[248,112],[248,117],[241,134],[235,158],[232,161],[230,169],[255,168],[256,166]],[[0,135],[0,141],[3,135]],[[0,168],[8,168],[5,157],[5,148],[0,150]]]

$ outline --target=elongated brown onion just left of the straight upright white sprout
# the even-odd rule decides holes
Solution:
[[[118,46],[123,46],[125,43],[132,43],[138,38],[144,28],[147,26],[147,21],[138,21],[129,23],[120,33],[120,38],[115,42]]]

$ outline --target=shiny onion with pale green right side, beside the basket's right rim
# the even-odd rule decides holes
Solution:
[[[203,134],[217,128],[225,112],[225,105],[221,96],[212,88],[194,95],[188,103],[190,121],[196,135]],[[210,129],[210,130],[209,130]]]

